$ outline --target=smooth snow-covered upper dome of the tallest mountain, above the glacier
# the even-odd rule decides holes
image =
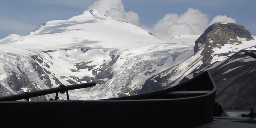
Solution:
[[[0,44],[12,43],[14,47],[28,45],[31,49],[74,45],[120,48],[165,43],[139,26],[115,20],[97,10],[85,11],[68,20],[48,21],[27,36],[9,36],[6,39],[1,39]]]

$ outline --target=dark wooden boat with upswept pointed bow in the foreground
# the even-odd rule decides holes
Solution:
[[[213,120],[216,85],[205,71],[171,88],[104,100],[2,101],[8,127],[197,127]]]

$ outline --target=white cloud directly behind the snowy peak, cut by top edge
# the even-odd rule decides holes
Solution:
[[[126,12],[122,0],[98,0],[88,7],[88,10],[96,9],[100,13],[106,14],[116,20],[140,25],[138,13]]]

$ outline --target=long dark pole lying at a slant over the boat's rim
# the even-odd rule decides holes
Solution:
[[[95,82],[90,82],[90,83],[83,83],[83,84],[67,85],[66,87],[67,87],[67,91],[69,91],[74,89],[88,88],[95,85],[96,85]],[[26,92],[26,93],[17,94],[17,95],[0,97],[0,101],[15,101],[15,100],[29,99],[31,97],[37,97],[37,96],[57,93],[61,91],[66,92],[66,90],[64,90],[62,87],[57,87],[57,88],[50,88],[50,89],[38,90],[34,92]]]

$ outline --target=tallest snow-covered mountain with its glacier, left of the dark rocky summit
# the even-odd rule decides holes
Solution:
[[[97,85],[70,91],[70,99],[128,96],[151,76],[193,54],[194,40],[184,37],[167,43],[97,10],[48,21],[27,36],[0,40],[0,96],[90,81]]]

